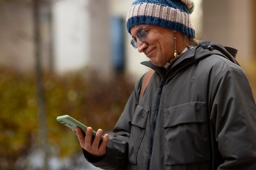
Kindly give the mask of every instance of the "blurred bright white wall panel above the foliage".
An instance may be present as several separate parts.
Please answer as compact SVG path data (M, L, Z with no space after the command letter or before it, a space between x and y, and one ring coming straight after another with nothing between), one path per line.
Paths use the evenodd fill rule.
M54 68L58 73L83 67L89 61L89 0L59 0L52 4Z

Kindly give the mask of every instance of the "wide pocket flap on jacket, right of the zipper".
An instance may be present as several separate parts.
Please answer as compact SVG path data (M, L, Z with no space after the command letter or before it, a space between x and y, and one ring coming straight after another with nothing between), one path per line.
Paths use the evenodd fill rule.
M206 122L206 102L190 102L164 110L164 128L182 123Z

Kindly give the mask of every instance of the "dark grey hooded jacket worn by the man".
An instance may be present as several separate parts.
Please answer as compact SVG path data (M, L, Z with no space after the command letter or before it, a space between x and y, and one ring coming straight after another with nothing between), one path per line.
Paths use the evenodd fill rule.
M228 49L229 51L230 49ZM256 170L256 106L249 82L220 44L187 51L155 70L141 99L139 79L103 159L106 170Z

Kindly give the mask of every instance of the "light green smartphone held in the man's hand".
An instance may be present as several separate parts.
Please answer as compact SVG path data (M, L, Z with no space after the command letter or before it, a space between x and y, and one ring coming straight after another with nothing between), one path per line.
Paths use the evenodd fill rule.
M69 115L58 116L57 121L73 130L76 130L76 128L79 127L81 128L84 134L86 129L88 128L87 126L85 126L84 124L82 124L81 122L77 121L76 119L74 119ZM95 135L96 135L96 132L92 130L92 139L94 139ZM103 136L101 136L100 143L102 140L103 140Z

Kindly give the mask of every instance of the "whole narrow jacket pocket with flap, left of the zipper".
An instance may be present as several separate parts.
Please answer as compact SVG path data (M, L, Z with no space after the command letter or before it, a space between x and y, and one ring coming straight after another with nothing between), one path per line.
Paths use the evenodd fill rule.
M148 109L137 105L132 118L128 162L137 165L137 154L146 128Z

